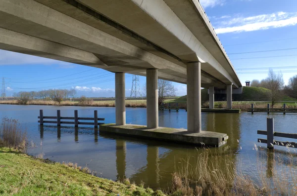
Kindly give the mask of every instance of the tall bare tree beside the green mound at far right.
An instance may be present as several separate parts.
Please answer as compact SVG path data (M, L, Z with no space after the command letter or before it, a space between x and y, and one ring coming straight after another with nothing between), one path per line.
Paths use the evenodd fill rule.
M284 79L282 73L275 74L272 69L269 69L267 87L270 89L271 107L273 108L276 101L282 98L281 90L284 87Z

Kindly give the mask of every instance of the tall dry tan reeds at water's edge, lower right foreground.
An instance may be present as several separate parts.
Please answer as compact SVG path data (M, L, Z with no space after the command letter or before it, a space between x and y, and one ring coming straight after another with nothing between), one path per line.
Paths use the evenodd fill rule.
M256 183L245 176L235 162L232 152L219 155L204 149L197 155L179 160L172 177L172 196L297 196L297 161L296 155L288 154L286 158L274 153L257 152L256 165L258 172ZM271 159L268 165L263 164L265 156ZM273 157L271 157L273 156ZM194 164L190 159L194 158ZM223 161L222 161L223 160ZM264 168L265 167L265 168ZM269 171L268 171L269 170ZM271 171L270 171L271 170ZM271 175L268 175L271 174Z

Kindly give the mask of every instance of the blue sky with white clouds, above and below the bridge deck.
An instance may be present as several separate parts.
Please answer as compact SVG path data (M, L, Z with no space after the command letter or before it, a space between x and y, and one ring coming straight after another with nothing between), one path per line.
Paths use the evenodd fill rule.
M297 0L200 0L241 82L266 78L268 68L285 83L297 75ZM270 51L267 51L270 50ZM274 50L274 51L271 51ZM261 52L256 52L261 51ZM114 96L114 75L92 67L0 50L6 94L76 88L78 95ZM140 77L141 88L145 77ZM126 95L132 76L126 75ZM177 95L186 85L174 83Z

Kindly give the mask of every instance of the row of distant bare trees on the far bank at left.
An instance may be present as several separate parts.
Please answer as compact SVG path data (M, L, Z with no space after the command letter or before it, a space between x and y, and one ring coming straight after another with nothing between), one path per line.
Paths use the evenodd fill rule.
M20 91L13 93L13 97L19 100L22 104L26 104L29 100L40 99L40 100L53 100L61 103L63 99L69 97L74 98L76 94L75 89L51 89L51 90L40 90L40 91Z

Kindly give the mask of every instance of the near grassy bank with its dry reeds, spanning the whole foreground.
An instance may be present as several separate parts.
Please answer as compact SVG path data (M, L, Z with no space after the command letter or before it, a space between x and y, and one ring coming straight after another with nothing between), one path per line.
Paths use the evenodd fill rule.
M166 196L160 190L131 184L128 179L120 183L96 177L87 167L77 164L25 155L21 152L25 150L25 143L26 132L17 121L4 118L0 128L1 195ZM258 152L256 146L254 149ZM254 175L258 184L240 172L241 164L232 155L234 152L222 154L204 149L195 156L176 160L171 186L165 192L168 196L297 195L295 154L289 154L284 160L270 158L270 166L265 168L261 160L271 157L273 152L257 153L255 161L260 168ZM191 158L194 158L194 164L190 164ZM278 165L284 166L275 169Z

